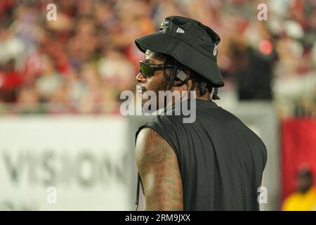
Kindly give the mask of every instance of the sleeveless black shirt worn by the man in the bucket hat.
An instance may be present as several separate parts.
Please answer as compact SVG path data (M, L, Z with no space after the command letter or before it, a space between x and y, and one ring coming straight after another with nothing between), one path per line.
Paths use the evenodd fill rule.
M143 124L175 151L183 181L184 210L259 210L267 151L263 141L216 103L196 101L196 120L158 115Z

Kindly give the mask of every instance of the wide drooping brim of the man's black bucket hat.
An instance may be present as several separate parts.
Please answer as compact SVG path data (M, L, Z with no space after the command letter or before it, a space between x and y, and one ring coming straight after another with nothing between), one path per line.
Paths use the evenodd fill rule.
M214 86L224 86L224 80L216 61L203 53L199 53L193 46L182 39L171 37L163 32L157 32L140 37L135 40L135 43L143 53L149 49L172 56L181 64L209 79Z

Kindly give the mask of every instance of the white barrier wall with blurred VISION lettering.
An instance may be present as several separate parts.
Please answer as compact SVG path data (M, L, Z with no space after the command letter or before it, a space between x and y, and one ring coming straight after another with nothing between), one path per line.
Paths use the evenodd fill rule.
M1 117L0 210L132 210L125 119Z

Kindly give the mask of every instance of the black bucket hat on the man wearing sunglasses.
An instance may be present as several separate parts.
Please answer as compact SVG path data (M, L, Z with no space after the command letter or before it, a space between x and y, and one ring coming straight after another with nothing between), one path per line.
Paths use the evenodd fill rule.
M164 19L159 32L135 40L140 51L150 49L172 56L187 68L195 70L213 86L224 86L217 65L217 50L220 37L216 32L197 20L181 16Z

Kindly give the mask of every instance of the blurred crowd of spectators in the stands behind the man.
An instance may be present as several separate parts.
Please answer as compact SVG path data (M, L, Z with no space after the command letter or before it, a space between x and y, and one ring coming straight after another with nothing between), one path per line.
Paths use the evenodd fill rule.
M51 3L57 20L46 18ZM261 3L268 20L258 20ZM239 100L316 112L316 0L1 0L0 113L119 113L144 57L133 40L168 15L220 34L218 65ZM308 92L304 83L291 95L287 82L301 80Z

